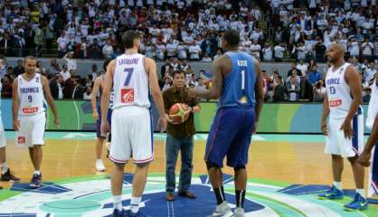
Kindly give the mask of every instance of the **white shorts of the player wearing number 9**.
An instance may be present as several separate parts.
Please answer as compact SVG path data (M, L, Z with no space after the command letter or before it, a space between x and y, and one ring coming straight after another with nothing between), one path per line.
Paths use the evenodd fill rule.
M32 147L44 145L44 128L46 126L46 115L40 113L31 116L18 117L20 128L15 132L15 145Z

